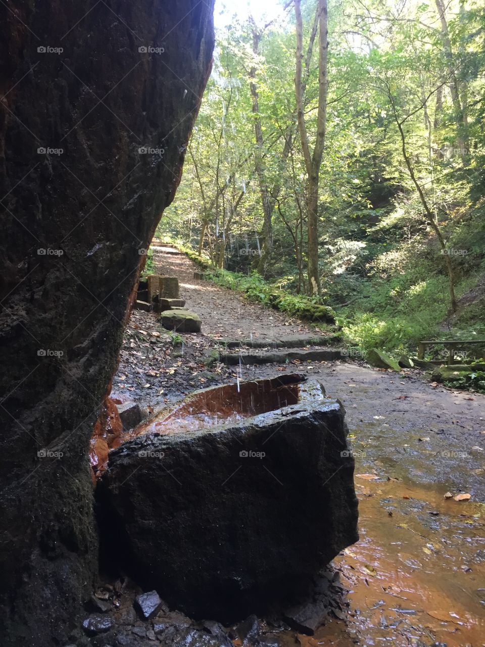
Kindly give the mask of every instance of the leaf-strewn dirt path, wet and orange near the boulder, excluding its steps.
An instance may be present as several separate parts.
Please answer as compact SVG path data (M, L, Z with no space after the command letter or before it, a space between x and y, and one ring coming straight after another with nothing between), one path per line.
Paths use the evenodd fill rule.
M155 314L133 313L116 393L156 406L233 382L235 367L218 365L208 377L203 358L216 344L213 337L314 334L294 318L193 280L197 267L186 256L157 250L155 261L160 274L178 276L187 307L202 318L202 334L183 335L182 355L163 334L149 341L149 331L159 330ZM140 329L147 333L141 341ZM242 380L296 370L322 382L347 411L361 540L336 559L349 608L314 637L282 631L281 644L484 645L485 396L433 387L417 371L391 373L345 357L238 369ZM445 499L448 490L471 500Z

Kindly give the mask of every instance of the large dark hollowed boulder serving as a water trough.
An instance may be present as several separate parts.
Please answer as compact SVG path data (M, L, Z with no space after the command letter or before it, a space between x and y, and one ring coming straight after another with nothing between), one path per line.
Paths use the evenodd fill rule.
M98 488L107 542L195 617L286 602L358 540L343 408L288 377L200 391L110 454Z

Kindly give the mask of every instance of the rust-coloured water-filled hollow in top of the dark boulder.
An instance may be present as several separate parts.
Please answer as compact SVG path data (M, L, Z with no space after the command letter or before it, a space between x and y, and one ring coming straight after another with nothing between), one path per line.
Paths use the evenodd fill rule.
M244 418L297 404L301 375L285 375L271 380L238 382L207 389L190 397L177 408L162 411L138 426L133 436L145 433L164 435L238 422Z

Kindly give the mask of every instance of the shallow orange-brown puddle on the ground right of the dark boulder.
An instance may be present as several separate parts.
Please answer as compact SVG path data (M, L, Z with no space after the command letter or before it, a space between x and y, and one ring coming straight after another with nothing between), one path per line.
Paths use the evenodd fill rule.
M282 644L485 644L484 504L400 481L356 477L356 487L360 541L335 560L348 620L327 620L312 637L287 632Z

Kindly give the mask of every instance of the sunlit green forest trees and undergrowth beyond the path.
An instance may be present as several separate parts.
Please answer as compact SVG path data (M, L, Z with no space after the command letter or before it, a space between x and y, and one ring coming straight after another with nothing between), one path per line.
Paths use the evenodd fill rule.
M160 235L228 284L237 272L330 305L364 348L484 336L481 3L221 10Z

